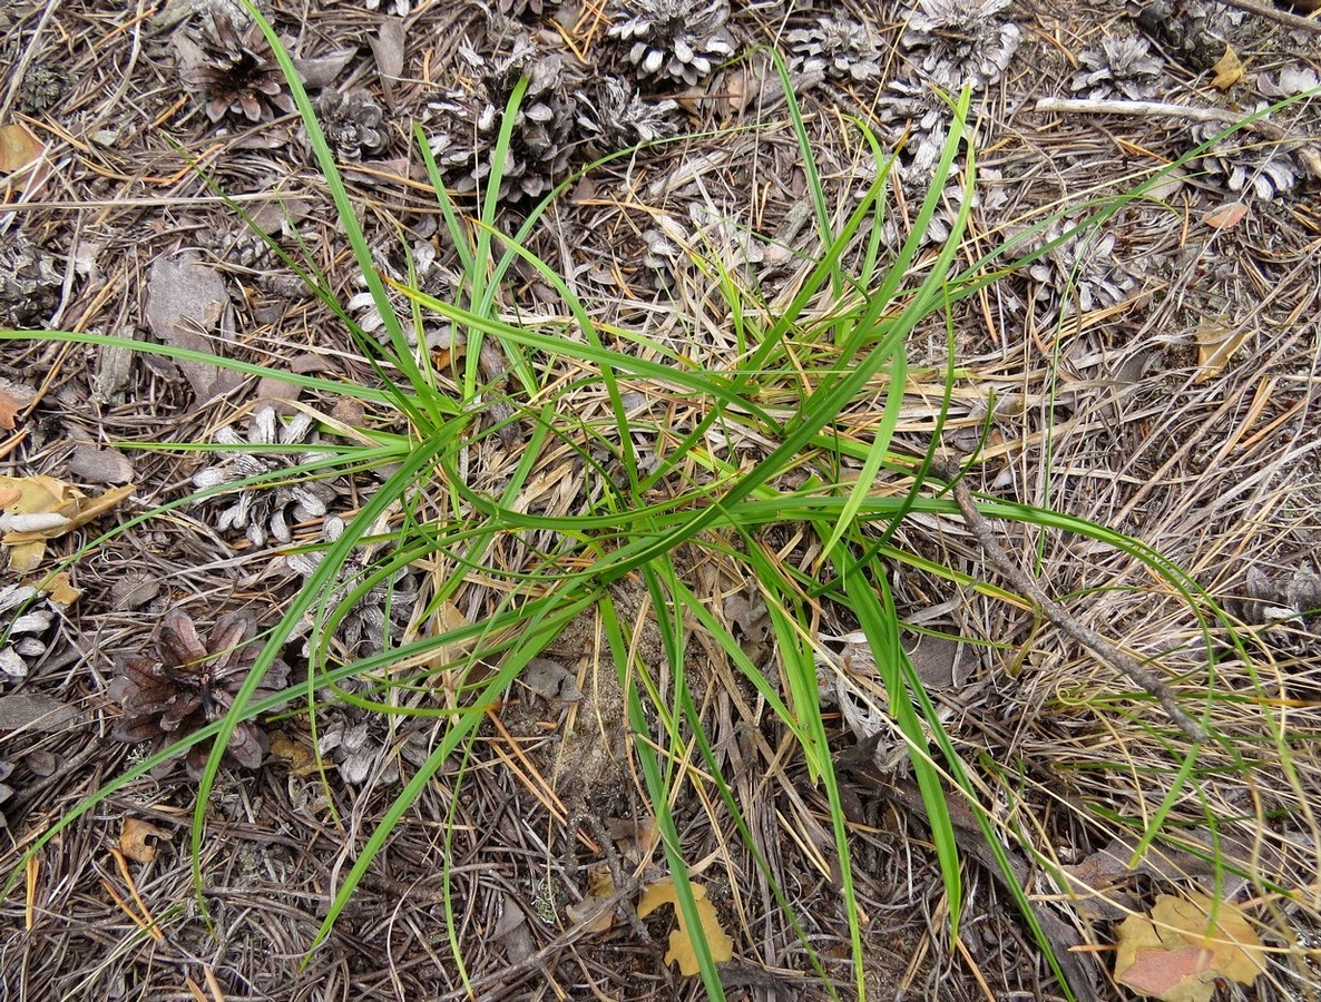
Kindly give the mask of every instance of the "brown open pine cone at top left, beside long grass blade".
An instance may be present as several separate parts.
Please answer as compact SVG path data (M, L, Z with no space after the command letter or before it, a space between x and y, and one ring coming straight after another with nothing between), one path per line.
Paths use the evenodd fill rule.
M262 28L250 21L239 30L229 11L211 11L211 26L201 45L185 36L176 40L180 77L189 90L206 96L206 115L219 121L242 115L248 121L293 111L293 98L284 92L284 74Z

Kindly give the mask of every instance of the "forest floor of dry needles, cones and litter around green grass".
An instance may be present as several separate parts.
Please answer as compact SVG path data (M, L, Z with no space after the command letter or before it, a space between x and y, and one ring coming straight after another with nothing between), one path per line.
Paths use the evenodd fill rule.
M1042 615L956 511L917 507L888 537L877 532L931 712L1009 846L1007 874L951 797L955 932L930 803L904 743L864 698L881 690L884 659L831 590L820 525L690 540L672 566L723 635L781 681L790 669L773 599L723 554L761 548L802 587L804 650L823 665L812 712L834 755L834 805L785 717L768 709L774 700L740 672L742 659L712 642L696 613L658 613L645 576L617 576L602 594L625 620L637 677L659 693L646 719L659 726L687 686L696 709L671 733L691 726L713 749L704 760L700 742L671 747L666 760L680 776L668 807L682 857L733 941L720 982L729 998L849 998L863 972L869 998L1132 998L1115 981L1116 943L1133 935L1120 932L1125 918L1149 916L1162 895L1205 895L1248 916L1256 968L1236 978L1217 954L1189 977L1173 969L1177 951L1151 951L1156 980L1176 993L1166 997L1321 997L1316 94L1210 143L1317 88L1321 21L1211 0L732 0L732 9L651 0L678 12L672 22L630 21L627 0L260 7L295 57L382 275L456 301L464 255L413 128L472 218L501 111L526 74L499 205L483 218L506 234L531 220L522 243L559 285L517 260L491 316L528 329L565 318L568 289L614 350L699 375L738 371L766 329L757 323L802 288L822 253L820 226L843 227L877 180L873 137L894 156L885 218L859 230L849 261L869 239L882 264L898 256L951 131L937 90L954 100L968 84L967 224L958 232L970 187L960 152L909 240L909 275L930 271L954 228L952 264L978 267L984 281L908 338L889 449L966 467L978 496L1024 506L1012 511L1062 512L1115 533L1104 541L1044 516L1015 520L1004 504L993 523L1008 560L1071 622L1156 669L1213 737L1190 741L1078 632ZM226 30L230 18L238 26ZM223 632L211 634L217 623L271 627L305 593L316 549L369 507L398 455L336 477L190 495L269 469L263 459L281 445L328 455L337 442L419 438L416 416L384 397L332 389L384 385L362 331L390 325L365 296L333 186L269 46L243 18L232 0L0 7L0 329L38 331L0 354L0 499L5 518L86 516L57 519L36 549L12 535L32 523L5 523L0 874L11 886L0 900L0 995L704 998L711 985L666 956L674 912L638 915L633 890L666 871L639 747L663 742L637 733L639 683L610 659L601 605L563 622L462 750L420 784L310 953L337 888L445 733L444 713L419 708L458 698L461 685L446 689L437 672L387 689L396 713L362 705L363 692L379 690L350 692L358 702L326 697L316 712L304 696L301 710L295 701L259 729L242 725L201 830L196 755L106 791L168 730L160 710L125 723L125 705L136 693L141 710L153 684L132 665L149 673L144 664L172 655L186 665L189 651ZM844 20L856 22L852 34ZM757 46L789 61L798 114ZM668 141L573 174L658 137ZM468 231L473 247L480 230ZM989 257L1016 240L1015 252ZM526 395L509 376L517 364L485 349L468 358L457 322L425 308L411 316L408 300L391 296L425 345L419 356L435 366L440 396L486 385L464 417L470 442L457 467L473 498L499 496L530 442L544 445L528 416L547 401L581 429L609 418L598 375L538 370L550 355L530 351L519 375L551 389ZM847 297L812 297L824 327ZM810 368L799 347L801 358L793 346L785 358ZM804 387L810 376L801 374ZM888 387L881 378L864 387L830 433L880 434ZM697 426L694 404L641 376L624 388L621 407L650 434L639 430L639 463L663 471L666 442ZM758 400L789 422L793 393L775 396L782 388ZM303 418L308 426L296 425ZM720 428L708 441L727 434ZM758 434L728 432L711 455L753 470L773 454ZM601 458L609 450L585 432L571 438L535 453L506 506L528 525L594 514L609 494L593 473L613 469ZM229 451L207 450L217 442ZM250 466L235 445L251 446ZM818 458L830 451L812 448ZM305 461L289 451L280 462ZM836 461L828 474L843 484L869 469L865 449ZM826 466L814 462L786 463L768 490L819 483ZM709 484L715 466L699 466L658 481L658 506ZM914 483L937 492L902 465L869 473L876 496L904 496ZM626 474L617 470L621 483ZM420 524L420 512L453 521L470 514L460 494L419 481L410 495L419 500L379 524ZM1155 573L1145 551L1110 544L1129 537L1197 590ZM392 552L374 545L373 558ZM390 630L410 640L495 617L514 594L501 582L556 545L510 532L452 590L449 549L396 568L391 599L366 595L339 624L333 663L373 655ZM687 638L678 655L671 620ZM306 680L309 657L305 638L285 646L284 684ZM495 677L498 657L477 661L469 668ZM234 697L226 680L206 684L194 714ZM791 688L779 697L801 714ZM256 743L246 749L244 738ZM98 791L107 795L30 852ZM1037 937L1009 892L1015 881Z

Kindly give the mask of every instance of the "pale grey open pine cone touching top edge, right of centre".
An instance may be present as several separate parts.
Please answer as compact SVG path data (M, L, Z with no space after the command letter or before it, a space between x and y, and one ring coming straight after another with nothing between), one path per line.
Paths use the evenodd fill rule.
M917 75L958 92L999 81L1018 49L1021 30L996 17L1009 0L918 0L900 37L918 53Z

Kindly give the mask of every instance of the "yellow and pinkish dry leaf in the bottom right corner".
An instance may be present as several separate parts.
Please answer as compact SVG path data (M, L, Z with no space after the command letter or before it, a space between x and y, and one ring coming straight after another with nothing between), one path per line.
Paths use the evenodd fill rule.
M1209 1002L1217 978L1251 985L1263 970L1252 924L1235 906L1203 894L1161 895L1151 919L1124 919L1116 945L1115 981L1161 1002Z

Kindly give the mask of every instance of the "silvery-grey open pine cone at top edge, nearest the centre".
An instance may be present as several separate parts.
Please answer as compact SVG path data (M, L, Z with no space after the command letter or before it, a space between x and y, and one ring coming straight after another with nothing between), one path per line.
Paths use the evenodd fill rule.
M626 0L609 36L642 78L696 86L734 51L728 0Z

